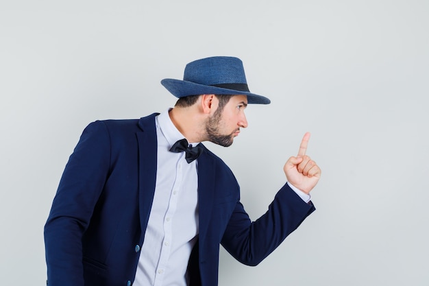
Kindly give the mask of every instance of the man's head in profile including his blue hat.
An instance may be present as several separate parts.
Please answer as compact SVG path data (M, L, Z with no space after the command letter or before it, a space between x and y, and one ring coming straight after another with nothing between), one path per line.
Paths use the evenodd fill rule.
M164 79L161 84L179 98L170 117L191 142L230 146L240 128L247 127L247 104L270 103L267 97L249 91L238 58L195 60L186 65L183 80Z

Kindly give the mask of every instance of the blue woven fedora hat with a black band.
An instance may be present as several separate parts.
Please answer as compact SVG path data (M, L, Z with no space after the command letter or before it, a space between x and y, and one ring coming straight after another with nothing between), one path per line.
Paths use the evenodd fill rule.
M161 84L175 97L188 95L247 95L249 104L269 104L262 95L249 91L243 62L234 57L210 57L186 64L183 80L166 78Z

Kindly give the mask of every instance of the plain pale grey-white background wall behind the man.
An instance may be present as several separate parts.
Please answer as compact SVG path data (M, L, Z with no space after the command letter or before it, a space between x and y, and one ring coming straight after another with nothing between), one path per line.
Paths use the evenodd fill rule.
M249 128L206 144L252 219L306 131L323 169L317 211L247 267L221 252L219 285L428 285L429 2L2 1L0 284L45 285L43 226L66 161L96 119L173 106L186 63L237 56Z

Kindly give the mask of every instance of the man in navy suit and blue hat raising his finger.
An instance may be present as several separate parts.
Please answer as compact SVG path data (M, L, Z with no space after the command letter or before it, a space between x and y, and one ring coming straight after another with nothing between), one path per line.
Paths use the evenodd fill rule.
M196 60L184 80L162 84L179 98L174 108L84 130L45 225L49 285L215 286L219 244L256 265L315 210L308 194L321 171L306 156L310 134L255 222L232 171L200 143L231 145L247 104L270 102L249 92L241 60Z

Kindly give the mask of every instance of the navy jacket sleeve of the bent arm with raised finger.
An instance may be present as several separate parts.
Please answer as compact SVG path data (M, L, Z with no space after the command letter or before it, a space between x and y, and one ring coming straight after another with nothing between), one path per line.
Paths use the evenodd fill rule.
M313 211L312 202L304 202L288 184L275 195L267 213L255 222L251 222L243 205L237 202L222 246L241 263L258 265Z

